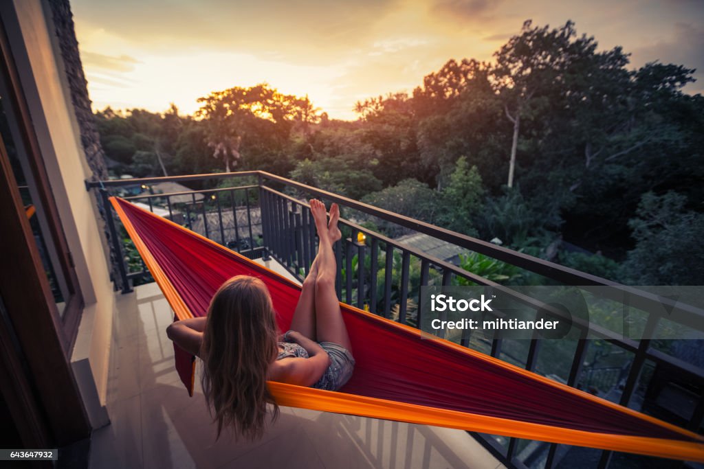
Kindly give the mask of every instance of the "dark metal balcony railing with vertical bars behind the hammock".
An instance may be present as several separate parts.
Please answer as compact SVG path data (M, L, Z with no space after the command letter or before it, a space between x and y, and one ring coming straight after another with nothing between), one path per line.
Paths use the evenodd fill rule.
M513 264L525 271L543 276L551 283L579 285L580 288L586 289L596 286L602 288L600 290L602 292L604 287L608 287L607 291L612 289L611 299L627 302L627 307L653 311L665 304L670 309L676 309L678 317L686 319L688 324L699 324L699 330L704 328L703 311L696 307L260 171L87 182L86 186L89 190L96 188L99 191L101 210L106 217L108 236L116 264L113 273L116 288L129 292L132 289L132 283L149 278L149 272L144 264L135 266L134 262L130 270L130 265L126 262L128 244L125 243L129 241L120 232L119 220L108 203L111 193L115 193L120 188L148 187L161 182L198 181L198 184L213 184L220 181L222 186L222 181L225 179L244 181L244 183L239 186L176 193L139 194L125 198L143 203L151 211L161 207L162 214L172 221L252 259L275 259L291 275L303 280L308 274L316 252L315 225L310 217L306 200L316 197L327 203L339 203L345 210L343 215L357 213L364 217L374 217L398 228L424 233L467 251L478 252ZM482 278L444 259L427 255L403 242L368 229L350 218L340 220L344 236L334 245L339 266L336 281L337 295L347 304L418 327L422 319L419 306L423 300L419 286L456 285L461 278L477 285L487 285L501 290L534 308L536 314L541 308L543 311L545 309L545 305L541 302L522 295L510 287ZM383 275L378 274L380 271L383 271ZM413 271L413 282L411 282L411 271ZM562 314L561 311L552 312L555 316ZM648 314L644 326L646 333L655 330L659 318L657 314ZM662 413L658 416L686 426L690 430L698 431L702 428L704 419L704 370L702 368L668 354L662 347L658 347L655 341L648 338L640 340L625 338L622 334L608 328L574 318L572 318L572 325L580 331L579 338L570 342L568 358L562 355L564 366L554 366L553 371L541 369L540 363L541 359L549 363L551 351L555 348L554 340L541 338L527 341L505 340L501 336L501 331L496 331L491 340L472 337L469 333L465 333L458 338L458 342L465 347L479 349L491 356L518 364L529 371L548 375L567 385L593 388L593 392L607 399L651 413L660 412L658 406L653 404L657 401L652 395L653 392L660 392L658 390L662 390L663 386L673 383L672 377L677 377L679 382L691 385L693 391L690 391L694 394L696 404L693 404L689 415L671 416ZM648 336L643 335L643 337ZM589 347L593 342L590 339L599 339L607 344L612 354L622 354L626 357L622 359L623 363L608 367L611 370L610 374L590 368L596 367L596 359L591 365L589 364ZM605 367L599 366L599 368ZM607 383L610 390L599 388L599 386L606 387ZM565 463L567 457L565 454L569 451L569 449L565 450L565 446L558 444L527 442L517 438L493 437L477 433L473 435L510 467L525 468L537 465L551 469L561 461ZM599 461L597 466L607 467L611 458L611 451L601 451L597 457Z

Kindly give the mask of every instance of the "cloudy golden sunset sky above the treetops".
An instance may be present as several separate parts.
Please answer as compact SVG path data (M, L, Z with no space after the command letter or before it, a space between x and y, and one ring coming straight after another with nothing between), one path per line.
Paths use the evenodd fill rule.
M704 1L73 0L94 108L170 102L268 82L330 117L354 119L360 99L411 91L450 58L491 60L524 20L621 45L631 65L696 68L704 92Z

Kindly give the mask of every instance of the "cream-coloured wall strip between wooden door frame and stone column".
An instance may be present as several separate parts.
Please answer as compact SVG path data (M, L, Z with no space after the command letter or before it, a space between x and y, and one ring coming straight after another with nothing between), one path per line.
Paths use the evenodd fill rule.
M13 4L20 32L8 28L11 49L85 302L71 361L91 423L99 428L108 423L105 404L115 314L99 214L84 186L90 170L63 61L47 25L51 11L42 0L14 0Z

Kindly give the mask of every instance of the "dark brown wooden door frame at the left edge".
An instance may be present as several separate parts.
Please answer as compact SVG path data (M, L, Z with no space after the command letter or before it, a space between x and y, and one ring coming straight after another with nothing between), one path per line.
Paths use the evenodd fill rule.
M20 436L30 439L26 444L33 446L44 439L43 444L57 447L89 437L91 431L70 365L83 299L8 44L6 26L12 19L3 15L0 21L0 74L7 88L4 98L11 108L6 111L9 118L16 119L15 124L20 129L24 156L30 163L39 202L49 222L50 232L44 236L47 243L54 243L56 247L60 265L54 268L61 269L71 285L71 295L65 298L62 317L58 314L18 184L0 138L0 259L3 264L0 268L0 297L6 311L6 321L0 321L0 338L4 345L0 347L0 372L11 373L8 375L11 379L0 379L0 392L8 403L19 403L13 419L24 435ZM6 342L6 338L12 337L11 342ZM18 414L16 417L15 413ZM24 423L30 425L27 431L20 428Z

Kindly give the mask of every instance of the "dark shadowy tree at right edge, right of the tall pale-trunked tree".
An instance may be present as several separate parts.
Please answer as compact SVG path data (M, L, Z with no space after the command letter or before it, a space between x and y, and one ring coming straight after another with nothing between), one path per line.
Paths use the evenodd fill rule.
M625 54L606 54L598 58L599 68L591 68L589 86L586 79L572 86L571 113L555 113L553 138L543 147L548 158L533 173L552 174L553 193L571 198L562 206L569 210L565 229L574 243L621 258L631 248L627 223L643 193L674 190L691 200L703 195L695 181L704 176L698 150L704 99L681 92L692 70L659 63L626 70ZM544 192L544 178L534 179Z

